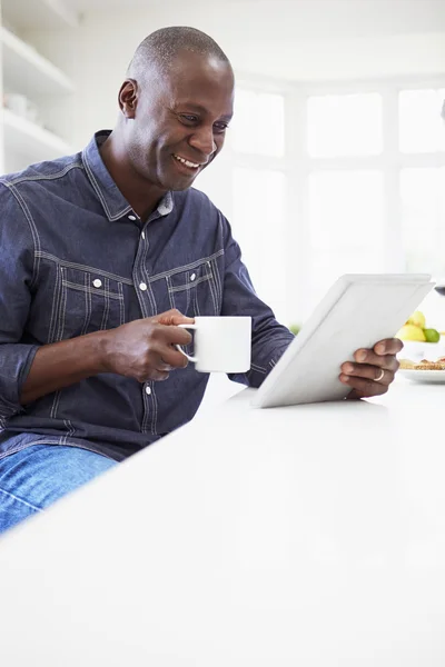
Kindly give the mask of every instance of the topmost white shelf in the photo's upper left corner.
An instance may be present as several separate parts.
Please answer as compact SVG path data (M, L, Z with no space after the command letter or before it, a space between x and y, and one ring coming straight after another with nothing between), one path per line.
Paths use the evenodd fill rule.
M70 0L1 0L4 19L21 29L46 30L79 24Z

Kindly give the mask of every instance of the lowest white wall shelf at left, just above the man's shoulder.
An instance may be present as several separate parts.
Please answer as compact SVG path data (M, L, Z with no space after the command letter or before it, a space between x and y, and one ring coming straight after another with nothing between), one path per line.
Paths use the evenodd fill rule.
M2 109L0 113L4 127L7 156L8 153L26 156L29 163L59 158L71 152L68 143L52 132L16 116L8 109Z

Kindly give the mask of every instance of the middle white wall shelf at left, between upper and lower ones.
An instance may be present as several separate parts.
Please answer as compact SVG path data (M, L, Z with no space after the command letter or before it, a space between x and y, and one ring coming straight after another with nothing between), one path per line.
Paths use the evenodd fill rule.
M0 41L3 84L8 90L30 97L73 91L72 82L63 72L6 28L0 28Z

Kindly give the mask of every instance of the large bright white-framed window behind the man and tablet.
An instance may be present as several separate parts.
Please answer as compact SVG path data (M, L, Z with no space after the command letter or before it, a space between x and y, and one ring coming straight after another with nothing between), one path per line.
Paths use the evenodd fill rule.
M278 319L304 321L340 273L443 278L445 78L276 90L237 90L224 157L199 182Z

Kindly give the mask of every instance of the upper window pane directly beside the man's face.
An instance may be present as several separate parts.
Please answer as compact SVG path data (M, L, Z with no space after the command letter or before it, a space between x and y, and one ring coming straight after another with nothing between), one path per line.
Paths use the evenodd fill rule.
M237 90L230 123L231 146L237 152L285 155L285 100L280 94Z

